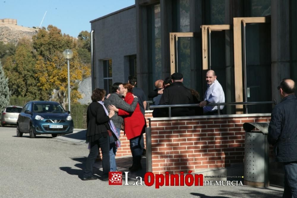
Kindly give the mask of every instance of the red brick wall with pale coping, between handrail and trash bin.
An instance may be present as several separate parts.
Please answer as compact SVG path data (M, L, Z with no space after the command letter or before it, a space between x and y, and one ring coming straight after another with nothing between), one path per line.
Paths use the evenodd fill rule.
M152 171L176 174L243 163L243 123L269 121L270 116L150 120Z

